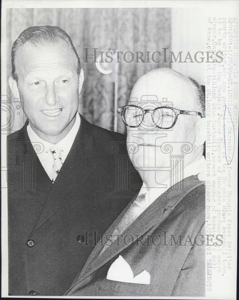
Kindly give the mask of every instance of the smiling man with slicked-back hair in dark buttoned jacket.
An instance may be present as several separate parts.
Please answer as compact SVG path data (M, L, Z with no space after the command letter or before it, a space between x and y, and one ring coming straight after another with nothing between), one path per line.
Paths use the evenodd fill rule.
M103 233L136 191L133 168L116 178L114 153L130 164L126 137L77 112L83 77L59 27L30 27L13 44L9 85L28 121L7 139L10 295L63 295L92 249L84 231Z

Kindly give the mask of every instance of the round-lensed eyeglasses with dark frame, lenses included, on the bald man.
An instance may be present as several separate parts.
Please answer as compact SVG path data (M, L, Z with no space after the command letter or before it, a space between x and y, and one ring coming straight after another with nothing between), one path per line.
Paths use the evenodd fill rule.
M118 112L121 112L124 124L128 127L139 127L143 122L146 113L151 113L154 125L160 129L172 128L179 115L200 116L203 118L203 115L199 112L178 110L168 106L156 107L155 109L150 110L143 109L137 105L125 105L119 107Z

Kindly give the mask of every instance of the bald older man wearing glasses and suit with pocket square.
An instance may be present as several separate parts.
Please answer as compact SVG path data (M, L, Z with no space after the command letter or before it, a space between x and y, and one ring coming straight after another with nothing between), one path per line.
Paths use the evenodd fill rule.
M205 295L205 99L170 69L138 79L120 107L144 184L107 229L66 295Z

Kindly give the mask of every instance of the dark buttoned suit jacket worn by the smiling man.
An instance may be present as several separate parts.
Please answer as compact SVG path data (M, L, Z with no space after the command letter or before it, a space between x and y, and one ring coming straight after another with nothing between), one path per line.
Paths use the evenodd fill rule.
M131 191L138 192L132 184L141 179L132 167L126 186L117 182L116 158L129 164L125 136L80 119L54 184L32 150L28 122L8 136L10 295L63 295L92 250L94 240L84 246L85 235L102 234L130 201Z

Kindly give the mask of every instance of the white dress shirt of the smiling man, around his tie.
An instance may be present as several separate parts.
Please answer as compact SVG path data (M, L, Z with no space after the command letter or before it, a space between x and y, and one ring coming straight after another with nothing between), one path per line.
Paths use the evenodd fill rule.
M74 143L74 140L75 140L75 137L76 137L76 134L77 134L79 128L80 128L80 115L77 113L75 123L72 126L71 130L68 132L68 134L62 140L60 140L60 142L55 144L62 150L61 159L62 159L63 164L64 164L64 161L66 160L68 153L71 150L71 147ZM43 152L41 152L41 153L36 152L36 154L39 158L40 163L42 164L42 167L44 168L47 175L51 179L50 176L51 176L52 166L54 163L53 156L50 152L50 146L52 144L48 143L48 142L42 140L40 137L38 137L38 135L32 130L30 124L28 124L28 126L27 126L27 132L28 132L28 137L29 137L33 147L35 145L37 145L37 143L43 144L43 146L44 146Z

